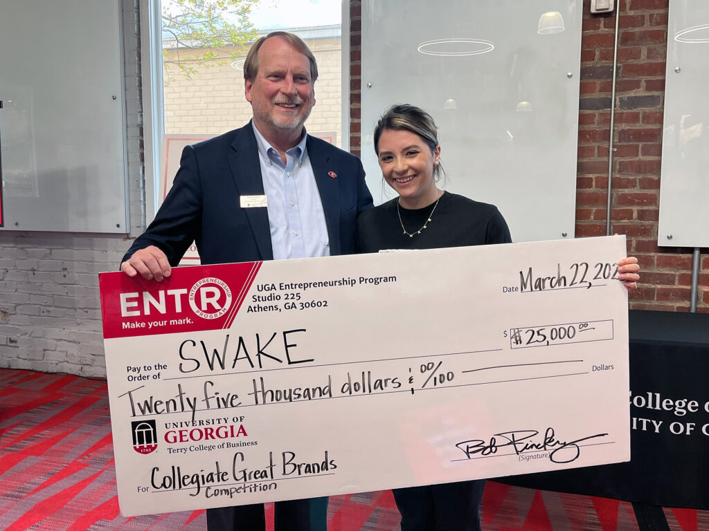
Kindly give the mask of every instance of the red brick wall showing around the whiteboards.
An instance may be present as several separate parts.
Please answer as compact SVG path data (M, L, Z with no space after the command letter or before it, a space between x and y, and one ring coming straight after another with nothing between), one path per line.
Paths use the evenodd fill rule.
M359 154L362 2L350 0L350 137ZM657 246L669 0L620 0L611 231L626 234L642 265L630 307L686 312L693 249ZM615 13L593 15L584 0L576 193L576 236L605 235ZM701 261L698 312L709 312L709 256Z

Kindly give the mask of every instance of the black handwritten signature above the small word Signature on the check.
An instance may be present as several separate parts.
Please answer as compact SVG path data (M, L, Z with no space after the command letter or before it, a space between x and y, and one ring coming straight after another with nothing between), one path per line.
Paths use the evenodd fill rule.
M458 442L456 447L461 450L467 459L472 459L476 454L492 455L496 454L499 448L506 446L513 447L516 455L524 452L549 451L549 460L554 463L570 463L579 459L581 447L579 442L605 437L608 433L597 433L575 440L559 440L554 433L554 428L547 428L544 439L541 442L532 438L539 435L537 430L516 430L496 433L489 442L481 439L464 440Z

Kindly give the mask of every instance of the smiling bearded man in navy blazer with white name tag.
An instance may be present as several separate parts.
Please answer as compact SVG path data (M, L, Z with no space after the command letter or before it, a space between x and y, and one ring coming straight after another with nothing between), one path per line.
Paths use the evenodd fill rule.
M188 146L172 190L121 270L157 281L194 240L201 262L305 258L357 251L356 222L372 207L357 157L306 134L318 67L296 35L255 42L244 63L253 120ZM276 531L320 531L328 498L277 502ZM262 504L207 510L209 531L265 530Z

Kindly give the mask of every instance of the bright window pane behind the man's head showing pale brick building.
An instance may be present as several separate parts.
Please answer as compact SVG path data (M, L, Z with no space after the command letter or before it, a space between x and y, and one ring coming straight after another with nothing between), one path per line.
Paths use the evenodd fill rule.
M311 135L340 146L341 1L231 0L224 12L209 12L210 4L189 13L174 0L162 0L164 132L216 135L245 125L252 116L243 77L249 47L270 31L286 30L301 37L318 61L317 103L306 128ZM236 14L247 6L248 13ZM196 23L207 19L212 23L209 27ZM189 23L203 33L191 34ZM214 39L229 25L242 30L235 39L240 44Z

